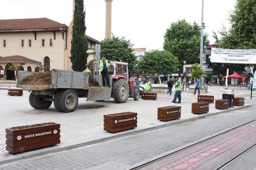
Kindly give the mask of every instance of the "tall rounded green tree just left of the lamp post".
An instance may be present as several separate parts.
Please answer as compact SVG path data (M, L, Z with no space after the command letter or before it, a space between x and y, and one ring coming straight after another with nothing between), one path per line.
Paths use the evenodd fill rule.
M178 57L179 76L184 61L193 64L200 57L200 26L197 23L190 24L185 19L171 23L164 35L164 49ZM208 45L207 35L204 35L204 45Z

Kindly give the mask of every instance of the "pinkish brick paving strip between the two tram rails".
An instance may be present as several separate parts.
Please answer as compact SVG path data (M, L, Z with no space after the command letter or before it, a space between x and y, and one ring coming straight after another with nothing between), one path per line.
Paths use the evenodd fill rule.
M256 121L153 162L141 170L215 170L256 144Z

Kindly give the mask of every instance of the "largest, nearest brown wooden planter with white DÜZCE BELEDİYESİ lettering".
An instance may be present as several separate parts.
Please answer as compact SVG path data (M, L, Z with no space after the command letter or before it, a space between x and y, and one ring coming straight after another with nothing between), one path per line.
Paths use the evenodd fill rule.
M42 123L6 128L6 150L24 152L60 143L60 124Z

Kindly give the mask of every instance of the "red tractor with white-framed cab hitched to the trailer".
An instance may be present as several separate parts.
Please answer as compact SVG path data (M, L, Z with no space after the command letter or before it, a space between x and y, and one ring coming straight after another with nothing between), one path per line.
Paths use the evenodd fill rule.
M140 97L140 91L134 89L134 78L129 78L128 63L122 61L110 61L112 66L109 68L109 72L112 73L112 94L116 103L124 103L127 98L134 98L138 100Z

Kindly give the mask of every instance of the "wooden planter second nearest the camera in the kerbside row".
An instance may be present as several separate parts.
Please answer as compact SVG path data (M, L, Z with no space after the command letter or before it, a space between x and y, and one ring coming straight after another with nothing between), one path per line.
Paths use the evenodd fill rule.
M137 127L137 113L124 112L104 115L104 131L119 132Z

